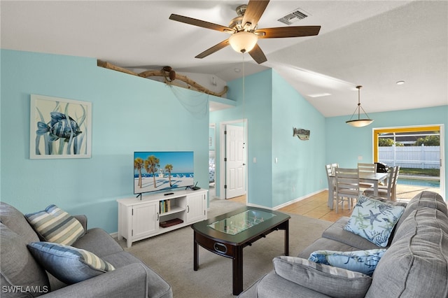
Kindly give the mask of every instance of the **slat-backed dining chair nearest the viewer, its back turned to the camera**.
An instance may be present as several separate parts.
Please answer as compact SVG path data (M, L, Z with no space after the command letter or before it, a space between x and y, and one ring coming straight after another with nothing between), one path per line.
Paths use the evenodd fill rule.
M353 205L353 199L358 199L359 190L359 170L335 168L336 181L336 213L338 212L339 199L344 208L344 201L347 201L349 209Z

